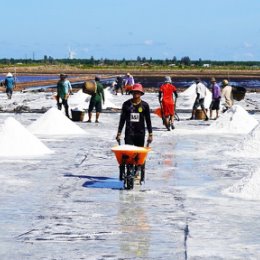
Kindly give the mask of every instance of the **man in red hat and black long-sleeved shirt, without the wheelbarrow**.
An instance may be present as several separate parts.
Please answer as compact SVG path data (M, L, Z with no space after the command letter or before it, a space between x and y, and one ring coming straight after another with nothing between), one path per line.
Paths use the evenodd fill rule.
M116 140L120 143L121 133L125 125L125 144L144 147L147 127L147 144L153 141L153 131L149 104L141 99L143 86L134 84L131 91L133 98L122 105ZM146 124L146 127L145 127ZM145 178L145 165L141 166L141 182Z

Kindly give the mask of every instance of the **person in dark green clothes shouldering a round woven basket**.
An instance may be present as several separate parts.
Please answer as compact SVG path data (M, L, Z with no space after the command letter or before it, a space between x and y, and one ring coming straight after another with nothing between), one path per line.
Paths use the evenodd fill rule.
M104 87L100 83L100 77L96 76L95 77L95 82L97 85L96 92L91 95L91 99L89 102L89 107L88 107L88 123L91 123L91 118L92 118L92 111L95 108L96 110L96 123L99 123L99 116L100 113L102 112L102 101L105 103L105 94L104 94Z

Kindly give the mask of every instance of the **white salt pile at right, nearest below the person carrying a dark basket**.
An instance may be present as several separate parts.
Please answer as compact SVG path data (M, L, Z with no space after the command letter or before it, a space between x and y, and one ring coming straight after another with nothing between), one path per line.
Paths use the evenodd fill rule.
M257 125L258 121L249 115L244 108L234 105L214 121L207 130L248 134Z

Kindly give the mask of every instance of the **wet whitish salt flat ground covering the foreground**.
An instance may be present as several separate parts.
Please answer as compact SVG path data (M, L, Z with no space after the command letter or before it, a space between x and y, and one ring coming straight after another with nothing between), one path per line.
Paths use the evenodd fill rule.
M15 93L9 107L26 99L51 108L51 97ZM249 106L236 105L257 106L259 95L249 97ZM110 98L121 107L130 96ZM157 94L143 99L158 107ZM7 106L5 94L0 101ZM0 127L12 116L26 129L42 115L1 113ZM259 113L250 115L259 122ZM186 120L190 113L169 132L152 114L146 182L126 191L111 151L119 116L76 122L87 133L81 138L38 137L53 154L0 157L0 259L259 259L259 155L224 153L252 132L195 134L214 121Z

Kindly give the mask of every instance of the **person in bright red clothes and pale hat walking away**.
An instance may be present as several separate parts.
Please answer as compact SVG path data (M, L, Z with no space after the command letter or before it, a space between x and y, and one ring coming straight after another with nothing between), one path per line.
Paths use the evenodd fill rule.
M174 129L173 120L175 111L173 94L176 99L178 97L177 89L172 85L171 77L166 76L164 83L159 90L159 102L161 104L163 116L165 117L164 124L168 131L170 131L170 127Z

